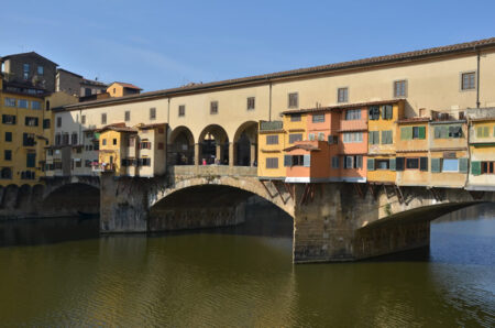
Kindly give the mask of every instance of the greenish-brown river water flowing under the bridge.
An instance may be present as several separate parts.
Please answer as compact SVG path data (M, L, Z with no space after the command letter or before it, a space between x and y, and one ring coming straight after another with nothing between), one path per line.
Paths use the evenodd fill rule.
M495 326L493 215L432 223L429 252L293 265L292 221L267 214L147 238L0 222L0 326Z

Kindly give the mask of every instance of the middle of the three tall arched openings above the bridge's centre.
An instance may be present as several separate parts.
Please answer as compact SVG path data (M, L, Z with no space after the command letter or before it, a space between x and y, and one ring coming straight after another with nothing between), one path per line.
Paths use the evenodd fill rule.
M229 165L229 136L222 127L211 124L199 135L199 164Z

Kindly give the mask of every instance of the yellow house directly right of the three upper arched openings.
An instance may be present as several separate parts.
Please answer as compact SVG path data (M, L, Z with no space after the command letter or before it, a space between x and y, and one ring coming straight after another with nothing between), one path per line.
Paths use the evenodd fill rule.
M257 176L284 179L285 131L282 121L261 121L258 125Z

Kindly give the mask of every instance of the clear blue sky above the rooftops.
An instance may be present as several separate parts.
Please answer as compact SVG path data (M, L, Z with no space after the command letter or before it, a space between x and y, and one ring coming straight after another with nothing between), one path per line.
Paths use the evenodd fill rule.
M145 91L495 36L495 1L4 1L0 56Z

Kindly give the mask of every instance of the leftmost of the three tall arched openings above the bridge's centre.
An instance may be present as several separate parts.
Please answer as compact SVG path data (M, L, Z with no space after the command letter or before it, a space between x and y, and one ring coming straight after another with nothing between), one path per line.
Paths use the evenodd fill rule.
M188 128L175 128L168 140L168 165L195 164L195 138Z

